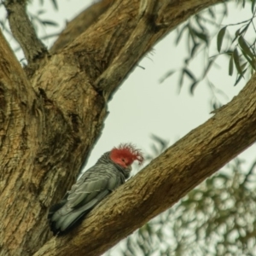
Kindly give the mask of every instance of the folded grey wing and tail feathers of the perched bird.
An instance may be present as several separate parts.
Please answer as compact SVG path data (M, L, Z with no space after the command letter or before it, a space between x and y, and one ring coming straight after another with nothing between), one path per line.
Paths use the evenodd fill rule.
M122 179L113 168L111 164L99 164L84 172L68 192L66 204L51 218L55 233L70 229L99 201L119 187Z

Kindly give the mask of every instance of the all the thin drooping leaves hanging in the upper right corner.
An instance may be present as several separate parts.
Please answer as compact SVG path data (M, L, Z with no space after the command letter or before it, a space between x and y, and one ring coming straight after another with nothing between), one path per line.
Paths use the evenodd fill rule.
M212 94L212 108L221 107L222 103L218 96L224 93L212 83L208 73L212 72L212 67L218 67L218 57L226 55L230 60L228 73L230 76L236 75L234 85L238 84L241 79L249 79L253 75L256 69L255 2L254 0L236 1L237 8L251 9L252 16L235 24L222 25L229 9L227 3L222 3L214 9L209 8L191 17L182 26L179 26L177 28L176 44L179 44L181 38L183 38L188 47L188 56L183 61L183 67L168 71L160 79L160 83L163 83L172 74L179 73L179 89L181 90L184 81L186 81L189 85L189 92L193 95L195 88L201 82L204 82ZM235 27L237 29L234 31ZM217 38L217 44L215 42L213 42L215 44L212 44L212 40L215 38ZM216 52L216 50L216 54L210 55L210 52ZM204 61L202 67L204 69L201 70L201 74L196 74L194 63L196 59L198 60L202 56Z

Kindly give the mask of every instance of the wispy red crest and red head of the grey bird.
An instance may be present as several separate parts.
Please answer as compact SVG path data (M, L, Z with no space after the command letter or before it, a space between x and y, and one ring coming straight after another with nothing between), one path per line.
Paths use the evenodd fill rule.
M135 148L135 146L130 143L122 143L118 148L113 148L110 151L110 159L113 160L113 162L125 159L125 164L127 166L131 166L135 160L141 165L144 160L141 150Z

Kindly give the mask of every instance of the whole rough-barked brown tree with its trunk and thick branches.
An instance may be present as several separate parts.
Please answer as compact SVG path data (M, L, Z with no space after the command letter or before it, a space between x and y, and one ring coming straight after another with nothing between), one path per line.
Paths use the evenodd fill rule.
M167 32L217 3L103 0L70 22L48 52L27 18L26 1L3 2L27 66L20 67L1 35L1 255L99 255L255 141L253 76L239 96L113 192L78 229L50 238L48 207L77 177L121 82Z

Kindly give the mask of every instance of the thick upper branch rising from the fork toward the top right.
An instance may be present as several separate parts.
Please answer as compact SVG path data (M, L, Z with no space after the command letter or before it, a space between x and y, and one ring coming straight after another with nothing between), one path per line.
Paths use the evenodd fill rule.
M90 26L64 51L78 55L82 68L82 63L90 64L86 65L86 73L95 78L92 85L108 102L121 81L153 44L191 15L221 2L116 1L101 16L101 20ZM104 47L102 38L105 39Z

